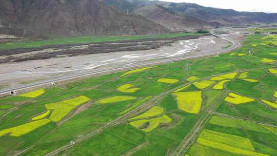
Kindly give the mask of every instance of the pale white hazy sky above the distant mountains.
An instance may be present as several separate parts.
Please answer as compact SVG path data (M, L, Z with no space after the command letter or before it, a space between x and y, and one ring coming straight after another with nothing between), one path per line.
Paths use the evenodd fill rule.
M196 3L206 7L215 7L223 9L234 9L237 11L263 11L277 12L277 0L161 0L167 2L187 2Z

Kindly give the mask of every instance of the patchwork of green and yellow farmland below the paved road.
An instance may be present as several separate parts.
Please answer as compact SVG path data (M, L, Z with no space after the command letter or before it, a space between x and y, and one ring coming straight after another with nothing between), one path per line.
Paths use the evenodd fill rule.
M276 41L2 98L0 155L277 155Z

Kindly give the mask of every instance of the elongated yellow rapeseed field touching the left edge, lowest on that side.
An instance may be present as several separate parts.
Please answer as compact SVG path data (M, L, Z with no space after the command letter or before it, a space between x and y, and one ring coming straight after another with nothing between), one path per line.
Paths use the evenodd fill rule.
M3 136L7 133L10 133L10 135L12 135L12 136L21 136L21 135L24 135L24 134L27 134L27 133L33 131L34 129L36 129L38 127L46 125L49 122L50 122L50 120L48 120L48 119L42 119L42 120L37 120L37 121L27 123L27 124L23 124L20 126L16 126L13 128L4 129L4 130L0 131L0 136Z

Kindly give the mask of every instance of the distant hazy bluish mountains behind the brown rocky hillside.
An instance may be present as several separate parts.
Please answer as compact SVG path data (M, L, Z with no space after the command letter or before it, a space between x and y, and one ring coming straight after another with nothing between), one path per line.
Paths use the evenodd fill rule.
M142 15L151 21L160 23L164 26L177 23L179 27L194 27L196 24L203 22L207 26L215 25L241 25L241 24L261 24L277 22L277 13L264 12L239 12L233 9L219 9L212 7L204 7L192 3L173 3L162 1L148 0L102 0L104 3L115 7L118 10L133 14ZM118 5L122 4L122 5ZM130 7L128 7L130 6ZM164 11L158 8L165 8ZM157 11L159 10L159 11ZM159 15L157 15L159 12ZM162 14L167 14L162 17ZM170 15L169 15L170 14ZM172 18L179 18L180 22ZM196 19L198 21L196 21ZM172 21L173 20L173 21ZM166 23L166 24L165 24Z

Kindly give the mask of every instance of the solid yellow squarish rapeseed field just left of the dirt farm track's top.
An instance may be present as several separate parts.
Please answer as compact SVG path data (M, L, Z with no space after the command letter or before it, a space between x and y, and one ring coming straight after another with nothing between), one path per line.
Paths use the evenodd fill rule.
M201 109L202 104L202 92L191 91L191 92L176 92L173 95L176 96L178 108L188 112L197 114Z

